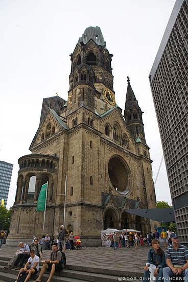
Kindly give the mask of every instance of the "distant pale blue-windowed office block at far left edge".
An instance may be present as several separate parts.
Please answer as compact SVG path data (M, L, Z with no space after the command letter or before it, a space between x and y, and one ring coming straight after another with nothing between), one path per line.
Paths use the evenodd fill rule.
M7 199L9 195L12 169L12 163L0 160L0 204L2 203L2 200L4 200L5 207L7 205Z

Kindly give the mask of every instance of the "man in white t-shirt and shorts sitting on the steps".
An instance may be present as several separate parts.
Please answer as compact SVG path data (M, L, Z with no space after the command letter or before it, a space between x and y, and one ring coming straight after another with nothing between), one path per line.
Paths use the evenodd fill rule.
M31 277L31 275L37 274L37 272L39 270L39 257L37 255L35 255L34 250L30 251L30 255L31 256L29 257L28 262L25 265L25 267L20 269L15 282L17 282L19 274L23 271L26 271L26 273L28 273L24 282L27 282L29 280L29 278ZM31 264L31 267L28 269L29 264Z

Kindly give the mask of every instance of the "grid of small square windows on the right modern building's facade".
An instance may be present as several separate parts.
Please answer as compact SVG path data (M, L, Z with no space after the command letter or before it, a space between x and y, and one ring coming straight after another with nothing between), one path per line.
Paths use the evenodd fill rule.
M158 68L162 67L164 72L162 73L162 69L159 70L157 68L155 76L151 83L151 89L152 89L152 95L153 95L154 102L156 102L155 100L159 94L159 90L161 90L160 82L163 81L163 79L161 79L161 77L163 77L164 78L163 87L167 91L166 92L167 103L168 102L171 103L170 104L171 107L173 104L177 103L176 104L177 109L175 109L174 107L174 111L172 110L171 112L169 112L170 121L172 121L171 126L174 131L173 132L174 140L176 140L176 141L173 140L173 147L171 147L171 151L174 151L174 149L176 150L177 148L177 150L180 150L180 154L181 154L181 155L180 154L178 155L178 157L181 157L179 162L175 163L175 165L168 170L172 198L178 196L179 194L182 194L184 191L188 191L188 186L187 186L187 183L188 183L188 170L187 170L188 156L185 155L184 157L182 157L182 154L187 152L187 148L186 148L187 135L185 135L185 131L184 131L185 127L187 128L187 120L185 121L185 119L182 119L183 109L184 109L185 114L187 113L187 110L188 110L188 106L187 106L187 89L188 89L187 80L188 79L187 79L187 73L185 73L187 72L186 70L187 49L185 49L185 41L183 41L183 38L182 38L182 37L185 38L185 36L187 37L185 38L186 44L187 44L187 39L188 39L187 30L188 30L188 5L187 5L187 2L184 1L180 9L179 15L177 17L176 23L174 25L174 28L171 32L171 36L166 46L166 50L165 50L165 52L168 53L169 60L171 62L172 69L173 69L173 74L175 76L175 80L177 81L177 85L179 89L177 91L176 83L174 81L173 76L172 76L173 78L172 83L170 83L170 78L167 79L165 69L167 69L168 71L168 65L167 65L168 60L166 61L166 63L164 62L163 64L161 62L160 66L158 66ZM165 52L163 54L165 54ZM162 59L164 58L165 56L162 57ZM159 77L160 77L160 81L159 81ZM175 97L173 98L174 94L177 96L180 96L180 99L175 98ZM160 105L159 102L158 104ZM181 111L181 114L180 114L180 111ZM178 121L174 122L174 119L177 120L177 118L178 118ZM182 124L183 130L182 132L178 132L178 135L176 136L177 134L176 131L178 131L178 129L176 130L176 128L179 127L178 125L181 126L180 124L181 122L184 123ZM161 127L162 127L162 124L161 124ZM171 138L171 142L172 142L173 134L172 136L167 136L167 138ZM168 146L167 142L166 142L166 149L165 149L166 152L165 153L169 154L168 156L166 156L167 162L168 162L170 159L173 160L173 157L176 155L176 153L174 154L170 153L169 146L171 146L172 144L171 145L169 144ZM176 158L177 158L177 155L176 155ZM180 235L180 241L188 242L188 236L187 236L188 234L188 206L175 210L175 217L176 217L176 223L177 223L177 231L178 231L178 234Z

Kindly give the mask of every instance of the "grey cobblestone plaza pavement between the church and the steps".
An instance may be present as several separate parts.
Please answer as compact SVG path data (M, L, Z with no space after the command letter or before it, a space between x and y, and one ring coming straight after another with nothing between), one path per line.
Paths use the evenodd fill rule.
M82 250L66 250L68 265L93 266L120 269L124 271L144 272L150 247L138 246L135 249L121 248L114 250L112 247L83 247ZM18 247L3 245L0 256L12 257ZM43 258L47 259L52 250L43 250Z

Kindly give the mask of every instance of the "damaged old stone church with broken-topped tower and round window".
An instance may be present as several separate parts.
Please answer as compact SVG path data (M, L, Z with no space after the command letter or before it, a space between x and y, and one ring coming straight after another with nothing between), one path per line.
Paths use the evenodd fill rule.
M44 234L56 237L64 220L66 176L65 227L81 236L83 245L100 245L106 228L151 230L150 220L126 212L154 208L156 197L143 112L127 78L122 115L115 102L112 56L99 27L87 28L70 54L67 102L60 114L55 104L45 115L43 109L31 154L18 159L9 244L33 234L41 238L43 212L35 210L46 181Z

